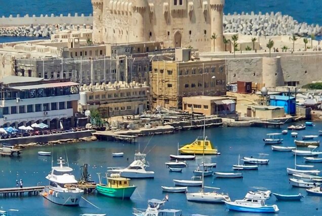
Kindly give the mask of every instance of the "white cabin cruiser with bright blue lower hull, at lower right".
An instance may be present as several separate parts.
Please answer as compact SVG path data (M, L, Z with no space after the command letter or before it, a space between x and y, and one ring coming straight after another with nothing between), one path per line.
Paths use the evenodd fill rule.
M258 198L256 193L250 191L242 200L235 200L233 202L224 201L229 210L244 211L244 212L278 212L277 205L266 205L264 199Z

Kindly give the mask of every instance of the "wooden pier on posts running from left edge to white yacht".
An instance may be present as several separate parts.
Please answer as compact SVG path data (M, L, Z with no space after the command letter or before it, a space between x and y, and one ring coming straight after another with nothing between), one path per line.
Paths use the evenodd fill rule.
M28 196L39 195L39 192L44 190L45 186L23 187L23 188L1 188L0 197L18 197L24 196L25 193Z

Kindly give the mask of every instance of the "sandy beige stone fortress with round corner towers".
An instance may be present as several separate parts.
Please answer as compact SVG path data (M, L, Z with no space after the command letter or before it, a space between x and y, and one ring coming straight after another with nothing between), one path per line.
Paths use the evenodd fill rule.
M94 43L163 41L166 48L223 51L224 0L92 0L92 4Z

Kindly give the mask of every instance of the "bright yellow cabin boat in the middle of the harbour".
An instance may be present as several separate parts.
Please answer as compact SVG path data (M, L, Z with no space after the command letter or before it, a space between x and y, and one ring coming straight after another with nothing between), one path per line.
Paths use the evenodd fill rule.
M205 148L205 152L203 148ZM179 153L187 155L220 155L218 149L212 146L210 140L206 139L205 141L203 137L198 137L191 144L181 147L179 149Z

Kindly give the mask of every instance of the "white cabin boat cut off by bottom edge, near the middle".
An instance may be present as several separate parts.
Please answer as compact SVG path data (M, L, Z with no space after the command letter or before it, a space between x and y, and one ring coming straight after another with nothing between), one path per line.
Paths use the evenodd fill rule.
M148 200L147 209L133 208L135 216L182 216L182 210L163 208L168 200L168 195L163 200L150 199Z

